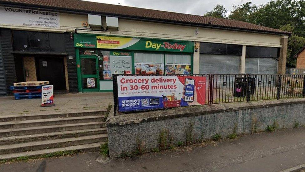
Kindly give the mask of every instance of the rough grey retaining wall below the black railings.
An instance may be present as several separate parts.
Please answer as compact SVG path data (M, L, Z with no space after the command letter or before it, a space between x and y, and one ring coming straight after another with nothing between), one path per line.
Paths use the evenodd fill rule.
M232 133L249 134L265 131L267 125L292 128L305 124L305 99L224 103L212 106L180 107L168 110L118 114L113 110L107 119L111 157L145 152L159 147L160 133L167 143L210 140L216 133L222 138ZM190 139L191 138L191 139Z

